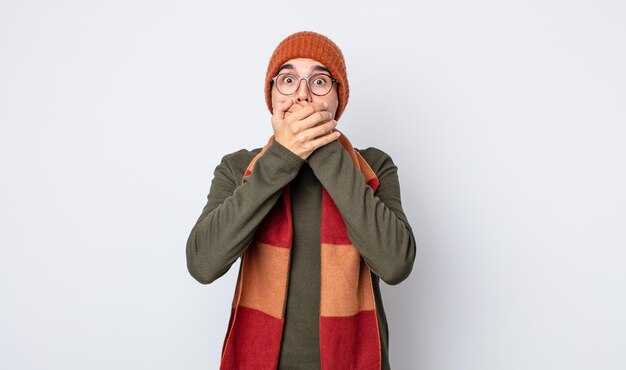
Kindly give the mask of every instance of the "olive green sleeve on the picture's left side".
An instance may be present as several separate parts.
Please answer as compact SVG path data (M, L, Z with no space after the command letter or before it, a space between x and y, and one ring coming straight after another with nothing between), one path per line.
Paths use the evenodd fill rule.
M255 162L248 151L227 154L215 168L207 203L187 239L187 269L202 284L224 275L243 254L263 218L304 160L274 141Z

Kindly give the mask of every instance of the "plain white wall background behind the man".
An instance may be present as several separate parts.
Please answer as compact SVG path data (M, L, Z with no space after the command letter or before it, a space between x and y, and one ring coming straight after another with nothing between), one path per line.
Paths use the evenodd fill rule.
M626 368L621 1L0 2L0 368L216 369L239 263L185 243L272 134L287 35L333 39L338 129L399 168L418 253L394 369Z

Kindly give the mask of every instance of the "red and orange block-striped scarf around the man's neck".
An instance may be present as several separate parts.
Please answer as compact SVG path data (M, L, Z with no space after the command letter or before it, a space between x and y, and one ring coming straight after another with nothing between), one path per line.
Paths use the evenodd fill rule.
M378 177L345 135L337 140L374 191ZM250 162L274 141L274 135ZM322 188L320 359L322 370L381 368L378 317L370 269L354 247L337 206ZM290 186L243 253L222 347L221 370L276 369L285 321L292 246Z

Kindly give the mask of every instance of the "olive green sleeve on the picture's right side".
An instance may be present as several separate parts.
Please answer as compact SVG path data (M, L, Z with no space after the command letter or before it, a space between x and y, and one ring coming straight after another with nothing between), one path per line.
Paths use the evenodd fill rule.
M415 237L402 210L398 168L389 155L375 150L382 161L378 170L373 167L379 180L376 193L338 140L318 148L307 159L365 262L384 282L395 285L413 269Z

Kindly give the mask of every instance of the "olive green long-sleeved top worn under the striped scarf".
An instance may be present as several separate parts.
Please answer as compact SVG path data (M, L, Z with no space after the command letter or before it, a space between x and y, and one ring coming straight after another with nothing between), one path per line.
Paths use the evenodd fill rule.
M189 272L203 284L213 282L243 254L281 189L291 182L294 234L279 369L320 367L322 186L333 198L350 240L372 271L382 368L390 369L379 279L395 285L408 277L415 260L415 238L402 210L398 169L391 157L372 147L355 149L379 178L375 194L337 140L317 149L307 160L274 141L243 184L243 173L261 148L225 155L215 169L207 204L187 240Z

